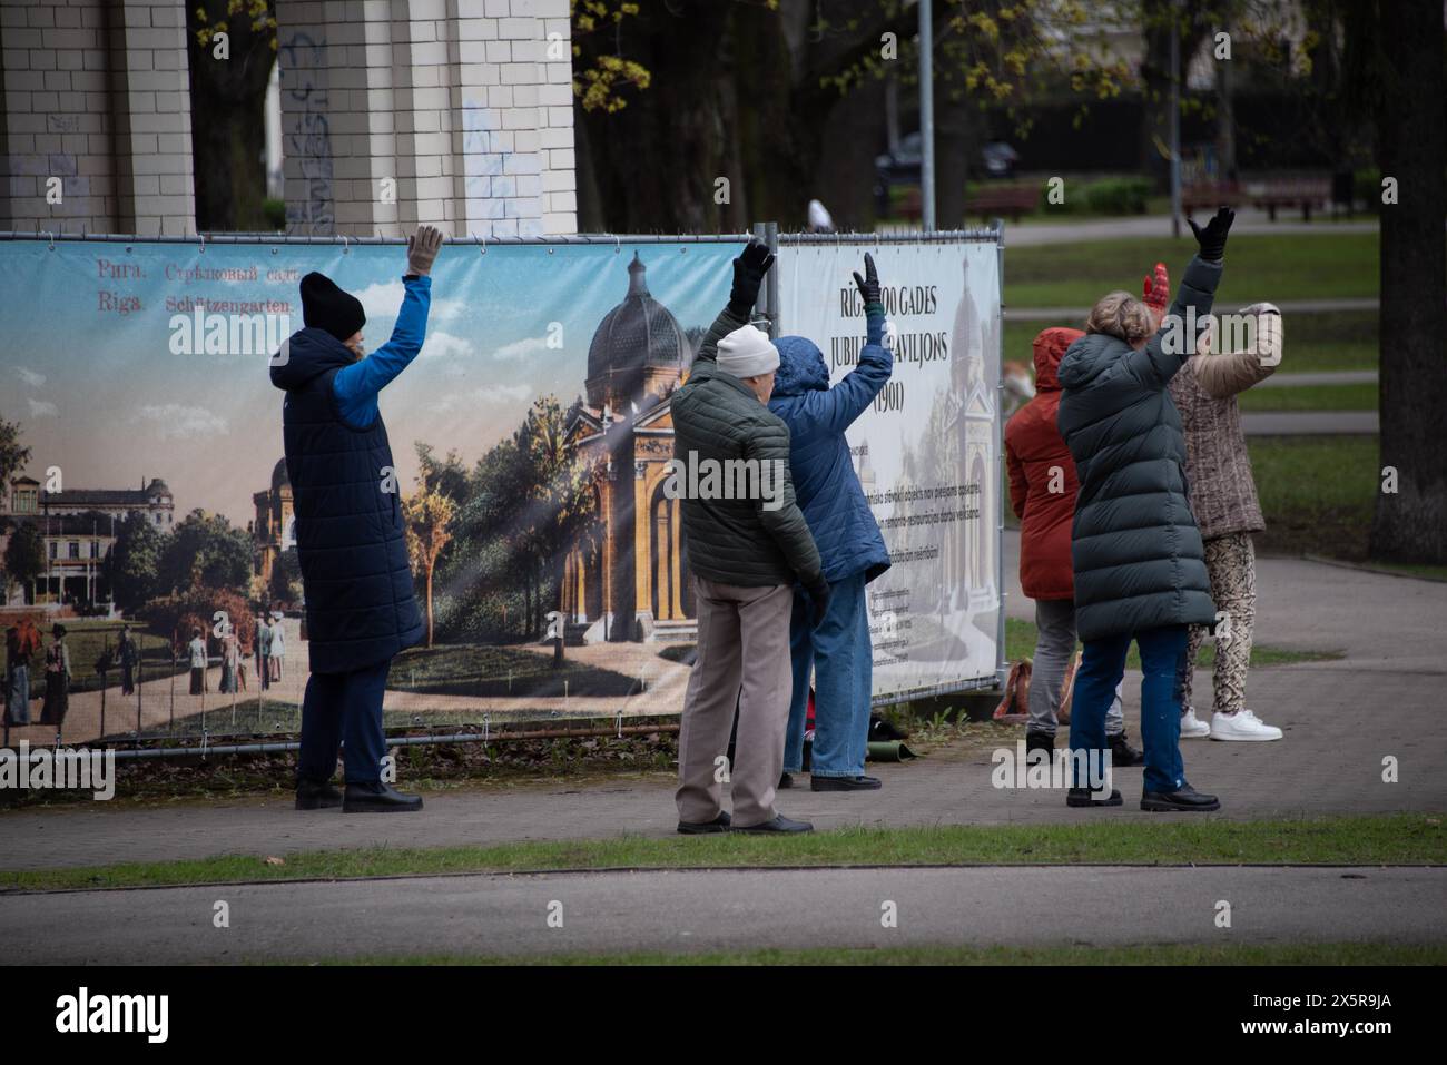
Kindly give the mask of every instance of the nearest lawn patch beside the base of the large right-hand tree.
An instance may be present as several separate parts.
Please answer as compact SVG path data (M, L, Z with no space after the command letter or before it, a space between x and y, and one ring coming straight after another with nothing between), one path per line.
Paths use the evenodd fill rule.
M1266 531L1257 550L1367 556L1380 486L1376 437L1249 437Z

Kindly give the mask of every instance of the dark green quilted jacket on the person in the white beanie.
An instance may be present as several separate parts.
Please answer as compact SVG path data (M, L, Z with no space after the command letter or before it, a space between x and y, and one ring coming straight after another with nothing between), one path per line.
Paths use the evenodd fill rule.
M822 579L822 567L819 548L794 501L789 427L716 362L719 340L747 324L747 318L725 310L703 339L689 381L670 404L673 454L684 464L708 459L767 462L770 470L783 473L783 505L765 509L763 499L695 499L682 493L689 567L725 585L757 587L797 580L807 586Z

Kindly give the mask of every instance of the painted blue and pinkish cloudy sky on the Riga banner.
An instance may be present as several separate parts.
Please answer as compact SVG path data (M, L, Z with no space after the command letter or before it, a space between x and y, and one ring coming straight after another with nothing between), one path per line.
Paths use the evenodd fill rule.
M407 269L401 246L0 243L10 278L0 301L0 418L22 427L27 472L59 466L67 489L137 488L162 478L178 519L192 508L236 525L271 486L282 456L281 392L268 357L174 355L171 318L188 300L275 301L301 328L298 281L321 271L366 308L368 350L391 334ZM519 424L531 402L566 408L583 392L599 321L628 292L634 252L679 324L706 328L728 298L741 245L444 246L421 356L382 394L398 472L417 472L414 441L456 449L472 464ZM255 279L197 279L194 271ZM23 284L17 284L23 279ZM282 305L284 304L284 305ZM547 346L551 323L561 346ZM556 331L556 330L554 330Z

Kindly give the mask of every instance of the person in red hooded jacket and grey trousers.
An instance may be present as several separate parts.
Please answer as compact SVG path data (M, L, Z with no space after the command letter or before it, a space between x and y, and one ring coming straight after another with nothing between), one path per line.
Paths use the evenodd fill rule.
M1055 415L1061 382L1055 376L1065 349L1084 336L1078 328L1048 328L1035 337L1035 398L1004 427L1010 506L1020 519L1020 589L1035 599L1035 661L1030 670L1030 721L1026 758L1053 757L1056 715L1065 673L1075 658L1075 579L1071 521L1075 517L1075 462ZM1106 715L1113 765L1140 765L1145 757L1126 741L1120 687Z

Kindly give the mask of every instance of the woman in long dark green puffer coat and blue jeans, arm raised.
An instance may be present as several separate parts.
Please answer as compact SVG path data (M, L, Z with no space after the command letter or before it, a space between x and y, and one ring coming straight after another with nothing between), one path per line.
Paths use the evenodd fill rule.
M1085 644L1071 710L1078 786L1066 796L1071 806L1121 802L1119 792L1092 799L1079 773L1085 764L1110 764L1106 710L1134 640L1145 673L1140 807L1220 809L1215 796L1187 783L1181 763L1176 674L1188 625L1214 625L1215 603L1188 502L1181 415L1166 385L1205 328L1233 218L1223 207L1205 229L1191 223L1200 252L1163 320L1140 300L1111 292L1095 304L1085 336L1061 360L1056 424L1079 479L1071 557L1075 618ZM1098 778L1091 784L1100 787Z

